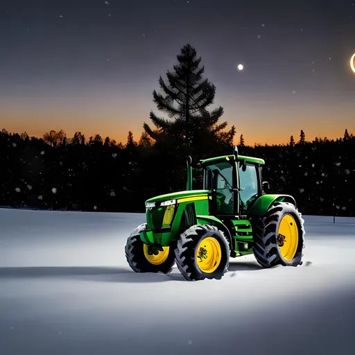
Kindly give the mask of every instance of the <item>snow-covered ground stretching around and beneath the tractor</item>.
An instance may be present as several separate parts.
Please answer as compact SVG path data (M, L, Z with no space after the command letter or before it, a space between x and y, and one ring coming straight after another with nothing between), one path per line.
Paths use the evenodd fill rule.
M144 214L0 209L0 354L355 354L355 218L304 216L304 264L136 274Z

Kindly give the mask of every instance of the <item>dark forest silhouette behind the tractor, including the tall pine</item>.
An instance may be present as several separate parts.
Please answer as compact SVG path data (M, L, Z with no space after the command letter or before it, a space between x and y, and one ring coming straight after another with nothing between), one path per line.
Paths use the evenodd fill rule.
M144 201L186 187L186 157L193 162L233 154L236 128L220 123L223 107L208 111L216 87L202 80L204 67L196 50L186 44L173 72L159 78L153 91L157 110L150 112L154 128L144 123L135 141L125 144L82 132L67 137L63 130L42 138L24 133L0 133L0 207L69 211L144 212ZM290 137L286 145L245 146L239 153L265 159L263 180L272 193L295 197L303 214L354 216L355 137L345 130L338 139ZM202 188L194 169L193 188Z

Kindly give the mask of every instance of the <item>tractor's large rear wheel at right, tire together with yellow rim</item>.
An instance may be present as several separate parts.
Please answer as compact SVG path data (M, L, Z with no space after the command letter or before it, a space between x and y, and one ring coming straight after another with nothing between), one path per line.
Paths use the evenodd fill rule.
M302 265L304 220L294 205L277 202L252 220L254 257L263 268Z

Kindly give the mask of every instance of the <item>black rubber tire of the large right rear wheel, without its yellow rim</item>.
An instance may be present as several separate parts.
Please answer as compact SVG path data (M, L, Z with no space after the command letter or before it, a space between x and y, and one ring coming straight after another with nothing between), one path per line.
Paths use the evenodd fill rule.
M284 259L278 245L279 225L282 218L287 214L291 215L293 220L295 220L298 232L297 248L293 258L290 260ZM272 268L277 265L302 265L305 234L304 220L294 205L287 202L276 202L268 209L265 215L252 220L251 223L254 257L263 268Z

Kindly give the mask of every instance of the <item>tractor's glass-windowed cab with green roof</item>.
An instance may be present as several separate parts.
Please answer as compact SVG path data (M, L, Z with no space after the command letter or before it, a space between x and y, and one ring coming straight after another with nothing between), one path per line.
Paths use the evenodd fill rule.
M202 160L203 189L212 191L215 216L246 216L262 194L263 159L228 155Z

